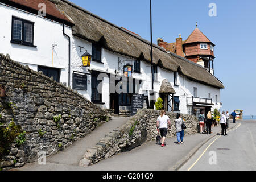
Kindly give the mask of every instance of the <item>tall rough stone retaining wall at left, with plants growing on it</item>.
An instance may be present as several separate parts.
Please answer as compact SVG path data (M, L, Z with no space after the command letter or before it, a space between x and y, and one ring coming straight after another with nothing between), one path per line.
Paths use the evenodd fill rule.
M0 55L0 85L5 88L5 97L0 97L0 126L7 128L14 122L26 131L24 144L13 142L0 156L0 169L21 167L38 160L39 154L53 155L110 117L74 90L8 55Z

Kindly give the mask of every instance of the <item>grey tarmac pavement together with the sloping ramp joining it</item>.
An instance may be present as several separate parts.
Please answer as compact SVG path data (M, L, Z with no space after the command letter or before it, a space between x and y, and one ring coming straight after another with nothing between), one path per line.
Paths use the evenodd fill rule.
M221 126L213 127L212 135L192 134L184 136L184 144L177 144L177 138L167 138L166 147L155 141L148 142L129 152L114 155L89 167L79 167L87 148L93 147L105 134L120 127L129 118L115 117L104 123L85 138L75 142L64 151L46 159L46 165L38 162L26 164L14 170L24 171L168 171L177 170L196 153L205 142L220 133ZM230 123L230 129L237 124Z

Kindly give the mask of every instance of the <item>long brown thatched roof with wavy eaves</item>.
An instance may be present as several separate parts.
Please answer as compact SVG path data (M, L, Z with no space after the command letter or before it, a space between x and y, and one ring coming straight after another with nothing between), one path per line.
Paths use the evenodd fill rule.
M74 22L75 26L72 27L74 36L89 42L100 43L103 48L109 51L151 63L150 42L147 40L67 0L57 1L56 6ZM162 47L156 44L153 44L153 63L168 71L178 71L179 68L182 68L182 73L195 81L224 88L222 83L203 67L195 66L191 61L184 61L179 56L168 55Z

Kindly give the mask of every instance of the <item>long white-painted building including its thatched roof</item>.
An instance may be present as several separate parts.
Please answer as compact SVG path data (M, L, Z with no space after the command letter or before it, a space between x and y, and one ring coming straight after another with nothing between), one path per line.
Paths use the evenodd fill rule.
M51 2L46 1L47 3ZM152 93L151 63L148 55L150 43L147 40L69 1L59 1L54 6L66 17L61 16L66 23L64 32L67 36L63 34L63 24L59 19L55 19L59 20L57 22L42 18L1 3L0 15L2 17L5 15L6 18L0 20L1 24L5 24L5 28L0 30L0 41L3 42L0 52L9 53L11 59L27 64L36 71L42 67L50 70L57 68L60 82L70 85L97 105L114 109L116 114L122 113L123 110L131 110L131 98L134 93L144 94L147 97L146 106L151 108L154 107L158 97L167 96L164 109L168 111L196 115L202 109L205 112L209 109L212 111L214 108L220 109L220 89L224 86L200 65L193 64L173 53L168 54L163 48L154 45L155 94L150 96ZM34 23L33 46L11 43L13 17ZM68 49L68 36L70 49ZM52 59L54 44L57 46L53 49ZM81 56L85 51L92 55L90 67L82 67ZM134 90L127 94L119 94L116 89L113 92L113 86L118 87L119 80L116 82L110 80L112 77L124 76L126 66L131 67L130 78L134 79L132 84ZM102 73L105 74L104 78L97 80L98 75ZM170 96L159 94L165 79L175 90L174 97L172 94ZM153 99L150 100L150 98Z

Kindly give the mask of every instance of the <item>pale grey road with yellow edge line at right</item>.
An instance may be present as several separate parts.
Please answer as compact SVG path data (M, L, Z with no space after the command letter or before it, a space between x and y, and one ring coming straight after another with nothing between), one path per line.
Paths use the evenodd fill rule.
M205 143L180 170L255 171L256 121L238 123L237 129L229 131L228 136L218 135Z

